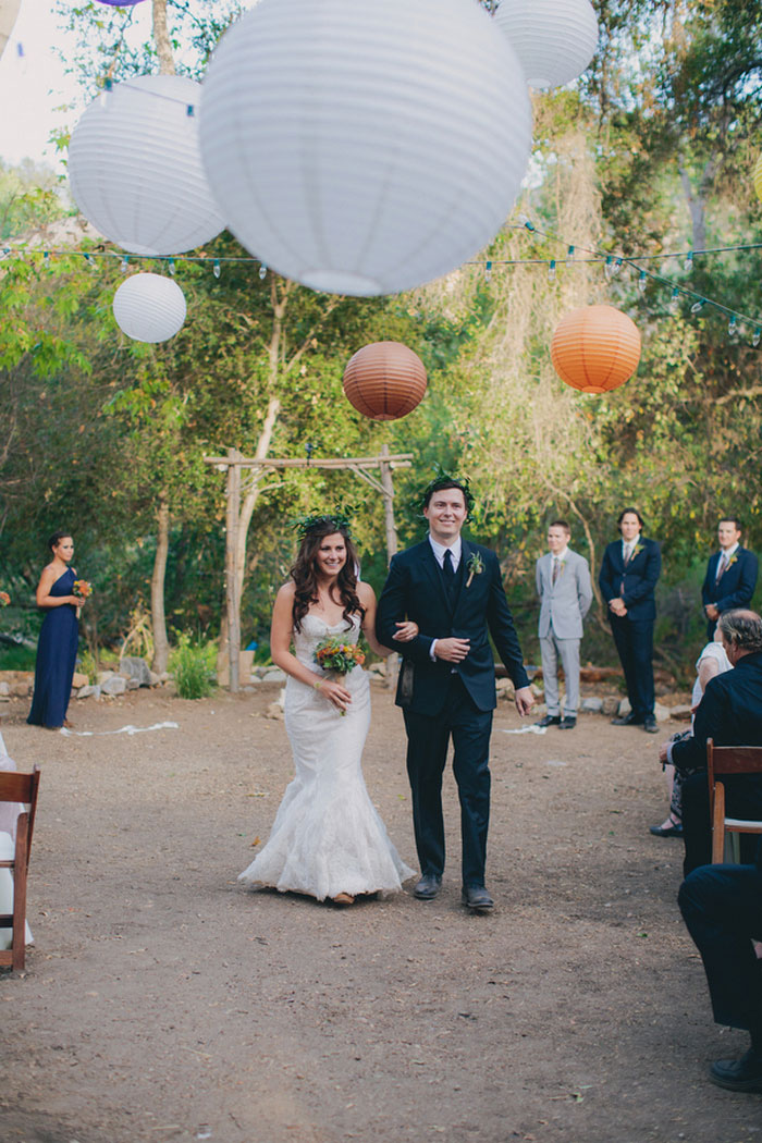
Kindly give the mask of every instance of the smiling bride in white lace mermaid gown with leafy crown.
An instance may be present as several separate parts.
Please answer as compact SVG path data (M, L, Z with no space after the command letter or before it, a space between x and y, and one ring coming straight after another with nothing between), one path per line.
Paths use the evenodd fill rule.
M247 887L272 887L351 905L362 893L392 893L414 876L374 808L361 758L370 725L370 687L361 666L331 677L315 662L327 638L355 645L362 630L377 655L391 655L375 634L376 597L356 577L348 520L308 517L291 578L273 608L271 653L289 676L286 730L295 777L264 849L240 876ZM415 639L415 623L395 637ZM291 644L294 652L291 652Z

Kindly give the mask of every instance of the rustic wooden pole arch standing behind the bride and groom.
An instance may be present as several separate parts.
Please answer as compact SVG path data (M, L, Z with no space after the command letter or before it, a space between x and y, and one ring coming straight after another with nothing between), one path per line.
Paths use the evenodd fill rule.
M386 531L386 563L391 563L396 552L396 525L394 521L394 469L409 469L412 453L391 455L383 445L379 456L307 458L254 458L246 457L238 449L228 448L225 456L204 456L207 464L214 464L226 473L226 528L225 528L225 600L227 605L227 631L230 655L230 689L240 690L241 652L241 589L246 537L241 536L241 491L244 471L249 473L249 485L257 483L266 473L276 469L338 469L353 472L377 491L384 503L384 526ZM378 477L376 475L378 472ZM243 542L242 542L243 541Z

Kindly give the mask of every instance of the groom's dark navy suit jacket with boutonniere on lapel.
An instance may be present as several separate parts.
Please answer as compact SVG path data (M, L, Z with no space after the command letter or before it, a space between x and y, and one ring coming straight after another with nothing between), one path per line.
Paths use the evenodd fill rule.
M378 601L376 634L386 647L399 649L403 658L396 704L417 714L431 717L442 711L454 666L478 709L488 711L495 708L495 658L490 634L514 686L529 686L497 555L470 541L462 539L462 544L451 602L428 539L393 557ZM471 574L468 562L474 555L481 559L483 570L474 574L466 586ZM418 624L419 634L411 642L395 644L394 624L406 616ZM433 640L450 637L471 640L466 658L456 664L432 661L430 650Z

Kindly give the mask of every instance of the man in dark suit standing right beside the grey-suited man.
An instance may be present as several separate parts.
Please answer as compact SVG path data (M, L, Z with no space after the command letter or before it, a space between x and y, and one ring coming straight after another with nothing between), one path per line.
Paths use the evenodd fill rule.
M621 539L603 553L599 584L609 605L609 623L625 672L631 711L611 721L615 726L642 726L657 734L653 717L653 589L661 572L661 552L653 539L641 535L643 518L626 507L617 521Z

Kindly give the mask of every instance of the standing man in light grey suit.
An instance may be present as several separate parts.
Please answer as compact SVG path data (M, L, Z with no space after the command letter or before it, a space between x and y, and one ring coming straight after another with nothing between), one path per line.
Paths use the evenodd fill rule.
M566 520L554 520L547 529L550 552L540 555L535 569L540 598L539 646L547 714L537 726L572 730L579 706L579 640L583 620L593 602L589 567L584 555L569 547L571 529ZM559 702L559 658L567 684L563 718Z

